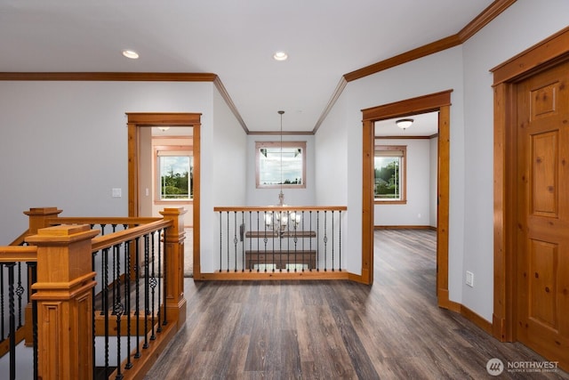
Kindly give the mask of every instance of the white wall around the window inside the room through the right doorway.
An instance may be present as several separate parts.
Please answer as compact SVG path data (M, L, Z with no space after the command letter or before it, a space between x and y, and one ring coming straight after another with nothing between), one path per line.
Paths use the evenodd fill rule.
M430 142L427 139L375 140L376 145L406 146L405 204L376 204L375 226L429 226L430 223Z

